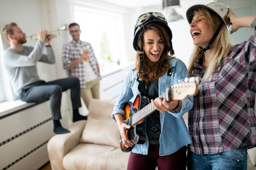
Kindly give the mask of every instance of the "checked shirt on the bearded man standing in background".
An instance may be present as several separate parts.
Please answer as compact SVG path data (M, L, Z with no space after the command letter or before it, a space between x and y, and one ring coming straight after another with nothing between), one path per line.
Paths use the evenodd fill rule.
M85 71L84 71L84 62L80 62L79 65L73 67L69 66L69 63L74 61L75 59L78 59L82 56L82 53L86 49L89 49L89 58L88 62L90 66L92 67L94 74L98 76L98 78L101 79L101 75L98 73L97 70L97 58L93 52L92 45L90 45L89 42L81 41L81 44L78 44L75 40L69 42L69 44L64 46L63 54L62 54L62 60L63 60L63 67L65 70L70 71L71 76L77 77L80 79L80 86L81 88L85 88Z

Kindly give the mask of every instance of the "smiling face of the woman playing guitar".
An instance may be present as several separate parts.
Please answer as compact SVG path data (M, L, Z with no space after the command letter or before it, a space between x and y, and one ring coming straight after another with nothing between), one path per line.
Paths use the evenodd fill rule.
M162 37L155 30L149 29L144 32L143 46L148 59L158 62L164 49Z

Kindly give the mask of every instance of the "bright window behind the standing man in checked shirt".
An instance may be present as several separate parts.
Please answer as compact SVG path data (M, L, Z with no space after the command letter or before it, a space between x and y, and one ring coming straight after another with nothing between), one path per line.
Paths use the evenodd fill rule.
M112 63L113 69L118 66L118 61L126 60L125 53L123 53L125 40L122 14L74 7L74 17L75 22L80 25L80 39L92 44L101 69L104 66L108 69L109 63Z

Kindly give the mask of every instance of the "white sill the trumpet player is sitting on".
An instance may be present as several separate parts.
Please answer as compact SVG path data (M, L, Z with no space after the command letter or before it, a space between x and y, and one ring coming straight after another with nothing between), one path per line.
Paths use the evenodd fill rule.
M1 117L7 114L19 111L20 109L30 107L31 105L35 105L35 103L26 103L21 100L1 102L0 103L0 119Z

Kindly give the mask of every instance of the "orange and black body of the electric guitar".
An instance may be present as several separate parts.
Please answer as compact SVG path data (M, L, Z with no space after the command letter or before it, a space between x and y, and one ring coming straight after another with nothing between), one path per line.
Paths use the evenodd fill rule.
M148 104L148 101L146 96L141 96L140 94L137 95L133 104L126 103L124 120L129 119L131 116L134 116L134 114L136 114L140 109L145 107L147 104ZM131 126L130 129L126 130L126 135L128 139L134 144L137 144L137 143L143 144L146 141L146 135L144 135L142 132L143 126L145 125L145 123L143 123L143 120L135 125L132 125L131 121L127 121L127 125ZM133 147L127 148L122 143L120 145L121 145L121 150L123 152L130 152L133 148Z

